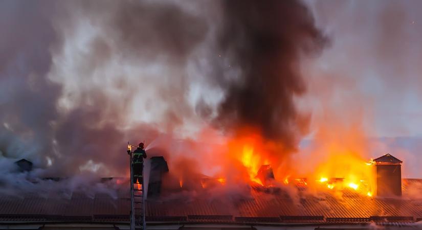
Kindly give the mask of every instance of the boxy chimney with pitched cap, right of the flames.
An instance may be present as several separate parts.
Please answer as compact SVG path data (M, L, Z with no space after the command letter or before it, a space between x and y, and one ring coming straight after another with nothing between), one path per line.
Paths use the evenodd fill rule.
M390 154L373 160L375 164L375 195L383 197L402 195L402 160Z

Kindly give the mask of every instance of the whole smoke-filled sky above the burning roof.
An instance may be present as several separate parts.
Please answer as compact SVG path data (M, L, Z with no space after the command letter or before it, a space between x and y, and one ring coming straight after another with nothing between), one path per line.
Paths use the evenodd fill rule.
M389 152L422 177L422 3L271 4L281 14L225 1L3 1L2 159L118 175L121 146L138 136L178 155L168 139L218 142L210 133L258 124L299 156L321 138L362 139L364 157ZM259 25L286 44L257 42Z

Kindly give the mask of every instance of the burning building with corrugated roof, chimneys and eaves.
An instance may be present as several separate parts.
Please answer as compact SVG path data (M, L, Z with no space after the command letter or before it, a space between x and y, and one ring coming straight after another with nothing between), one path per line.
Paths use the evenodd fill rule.
M288 186L277 185L270 166L264 165L257 178L264 185L251 183L247 194L217 193L218 178L207 178L204 193L164 195L168 183L168 167L163 157L151 159L149 188L146 200L146 221L149 229L280 229L336 228L369 229L419 228L422 220L422 199L407 196L415 189L422 192L422 179L404 179L400 175L401 160L390 154L373 160L376 170L376 196L360 193L358 188L342 188L338 197L332 190L307 191L306 178L295 179ZM385 167L387 166L387 167ZM398 179L398 181L397 181ZM215 180L216 184L211 183ZM203 180L202 182L204 182ZM272 181L272 183L268 183ZM334 184L344 181L322 179ZM97 192L88 196L74 192L68 198L31 194L0 196L0 227L20 229L128 229L130 195L127 179L108 178L103 183L119 183L117 196ZM321 182L321 181L319 181ZM283 184L283 183L281 183ZM269 190L270 187L278 190ZM358 185L361 186L361 185ZM294 190L294 191L292 191ZM173 191L174 192L174 191ZM179 196L175 195L179 194ZM396 196L390 196L394 194ZM398 196L402 195L402 196ZM388 197L385 197L388 196ZM405 198L406 197L406 198Z

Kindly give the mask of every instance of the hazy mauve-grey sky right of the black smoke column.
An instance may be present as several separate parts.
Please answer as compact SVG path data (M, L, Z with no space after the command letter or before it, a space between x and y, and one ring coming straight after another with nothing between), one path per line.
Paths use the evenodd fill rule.
M307 1L331 44L313 78L331 81L339 111L362 109L374 137L421 136L419 1ZM325 75L317 76L317 75ZM324 79L325 80L325 79ZM319 81L319 80L318 80ZM313 86L310 86L312 91ZM316 86L318 90L318 86ZM311 93L312 94L312 93ZM347 101L349 100L349 101ZM353 102L354 101L354 102ZM361 108L359 108L361 107Z

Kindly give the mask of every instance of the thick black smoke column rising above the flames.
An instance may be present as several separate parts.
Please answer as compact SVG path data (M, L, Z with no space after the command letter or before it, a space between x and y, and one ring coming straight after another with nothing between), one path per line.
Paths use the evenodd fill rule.
M239 72L219 76L226 96L216 123L258 129L287 150L307 127L294 97L305 92L301 55L321 50L325 38L299 1L223 1L220 55Z

